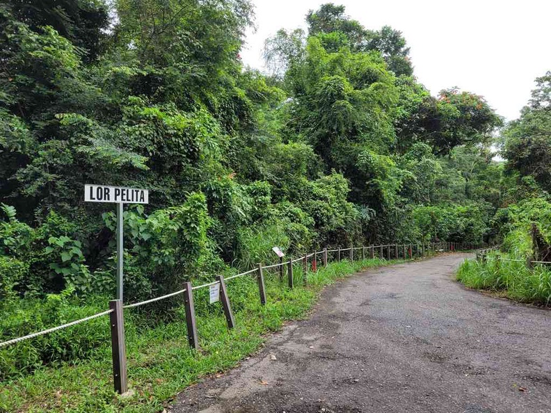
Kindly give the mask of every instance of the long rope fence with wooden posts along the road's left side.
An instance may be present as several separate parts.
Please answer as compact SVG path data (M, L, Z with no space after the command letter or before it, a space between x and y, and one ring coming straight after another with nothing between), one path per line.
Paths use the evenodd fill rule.
M415 248L415 254L413 253L414 248ZM337 248L334 250L328 250L327 248L324 248L324 250L311 252L310 254L305 254L302 257L298 257L296 259L289 258L289 260L285 262L283 261L282 258L280 258L280 262L277 264L270 264L266 266L263 266L262 264L258 264L258 266L256 268L253 268L252 270L248 270L248 271L245 271L244 273L232 275L231 277L224 278L222 275L217 275L216 281L209 282L207 284L192 286L191 282L186 282L184 283L184 289L175 291L173 293L168 293L166 295L161 295L160 297L151 298L150 300L134 302L128 305L122 305L122 300L111 300L109 302L109 310L102 311L101 313L94 314L93 316L88 316L86 318L81 318L80 320L72 321L70 323L58 325L56 327L51 327L41 332L28 334L24 337L18 337L16 339L0 342L0 348L19 343L20 341L49 334L51 332L56 332L58 330L65 329L67 327L71 327L72 325L86 323L87 321L93 320L95 318L99 318L101 316L106 316L109 314L109 324L111 327L111 352L113 355L114 386L115 386L115 391L122 394L127 391L127 368L126 368L126 350L125 350L126 347L125 347L124 318L123 318L123 311L122 311L123 309L136 308L142 305L150 304L152 302L165 300L166 298L174 297L175 295L183 294L189 346L191 346L191 348L197 349L198 334L197 334L197 327L195 325L195 307L193 303L193 291L195 290L220 284L218 300L221 302L221 305L223 307L223 311L227 321L227 327L233 328L235 325L235 321L234 321L234 316L233 316L232 308L230 304L230 298L227 295L225 283L227 281L233 280L234 278L255 273L258 281L260 302L262 305L265 305L266 292L264 289L264 273L263 273L264 270L268 270L271 268L279 268L278 272L280 275L280 282L282 282L285 267L287 267L287 280L288 280L289 288L292 289L294 288L293 264L295 264L298 261L303 262L303 282L306 285L308 283L308 274L310 273L310 264L312 265L311 270L313 272L317 272L317 270L319 270L319 267L317 265L317 260L319 255L321 255L321 258L322 258L322 263L323 263L322 265L326 267L328 266L328 254L333 252L338 252L337 261L341 261L344 258L348 258L349 260L353 261L354 259L358 259L358 254L354 254L354 250L362 250L362 254L360 257L361 259L366 259L366 255L367 255L366 251L368 251L369 259L377 258L377 259L390 260L392 258L401 259L402 257L403 259L406 259L407 257L409 257L410 259L420 258L420 257L424 258L424 257L429 257L431 254L436 254L436 251L453 252L458 249L471 250L471 249L474 249L474 245L458 244L458 243L428 243L428 244L410 243L410 244L368 245L368 246L362 246L362 247L351 246L349 248ZM342 254L342 252L349 252L349 254ZM386 257L384 257L385 253L386 253ZM346 255L348 257L346 257ZM477 253L477 257L478 256L479 255ZM312 257L314 258L311 259ZM333 258L335 258L335 256L333 256ZM312 262L310 263L310 261ZM518 260L518 261L521 261L521 260ZM537 261L534 261L534 262L537 262ZM213 291L211 291L211 293L212 292Z

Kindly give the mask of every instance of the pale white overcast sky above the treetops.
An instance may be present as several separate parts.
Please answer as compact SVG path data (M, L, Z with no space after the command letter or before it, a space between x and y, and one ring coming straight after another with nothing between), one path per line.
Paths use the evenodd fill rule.
M255 33L243 63L264 70L264 40L281 28L306 28L308 10L328 1L253 0ZM551 0L334 0L367 29L403 32L421 83L483 95L497 113L518 118L534 79L551 70Z

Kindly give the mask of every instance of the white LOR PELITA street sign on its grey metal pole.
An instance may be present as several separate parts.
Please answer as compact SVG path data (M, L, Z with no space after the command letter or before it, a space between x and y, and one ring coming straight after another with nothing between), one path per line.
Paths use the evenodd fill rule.
M147 189L122 188L120 186L84 185L85 202L109 202L117 204L117 300L122 302L122 278L124 245L124 204L148 204Z

